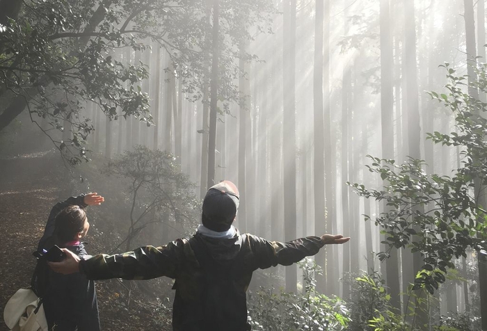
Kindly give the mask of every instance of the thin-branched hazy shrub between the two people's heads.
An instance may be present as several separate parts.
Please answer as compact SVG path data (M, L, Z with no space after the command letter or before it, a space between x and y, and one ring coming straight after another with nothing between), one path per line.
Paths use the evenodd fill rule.
M167 225L173 221L181 227L189 227L199 218L200 200L193 193L194 185L180 172L172 154L137 146L134 151L116 156L104 173L129 181L127 203L131 209L125 239L127 249L148 224Z

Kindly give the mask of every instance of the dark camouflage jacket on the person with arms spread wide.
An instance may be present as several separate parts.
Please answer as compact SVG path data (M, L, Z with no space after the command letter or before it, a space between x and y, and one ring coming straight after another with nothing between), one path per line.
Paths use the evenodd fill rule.
M253 271L288 266L317 254L322 246L317 236L280 243L238 232L232 239L196 234L157 248L95 255L81 260L79 268L92 280L175 279L175 331L244 331L250 330L246 291Z

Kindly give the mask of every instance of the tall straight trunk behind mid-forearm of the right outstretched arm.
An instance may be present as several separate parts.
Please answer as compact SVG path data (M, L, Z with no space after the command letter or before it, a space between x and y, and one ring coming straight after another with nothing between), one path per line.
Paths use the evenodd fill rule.
M282 161L284 168L285 240L296 236L296 0L284 1L284 117L282 119ZM296 265L286 268L286 291L296 292Z

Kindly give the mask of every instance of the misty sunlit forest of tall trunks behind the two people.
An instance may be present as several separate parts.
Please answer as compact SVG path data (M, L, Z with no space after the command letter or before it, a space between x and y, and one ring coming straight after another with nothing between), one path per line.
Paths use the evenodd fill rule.
M456 130L427 92L442 93L445 62L475 80L475 63L485 61L476 58L485 54L484 1L17 5L0 1L3 151L29 118L71 151L72 163L136 145L164 150L200 197L221 179L239 186L242 231L279 241L351 236L350 245L317 255L317 289L346 300L349 280L372 269L383 274L392 307L405 311L408 296L399 293L415 281L422 256L404 247L379 263L372 251L385 249L385 237L362 214L394 208L345 182L388 186L365 168L367 154L422 159L426 173L439 175L464 161L460 147L426 140ZM454 261L462 277L440 286L430 318L479 309L479 279L467 276L476 254ZM289 291L301 286L295 267L273 273Z

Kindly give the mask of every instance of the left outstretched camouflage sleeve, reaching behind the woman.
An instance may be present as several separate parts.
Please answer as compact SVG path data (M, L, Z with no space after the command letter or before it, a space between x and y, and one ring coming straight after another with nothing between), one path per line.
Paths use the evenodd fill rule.
M143 246L122 254L94 255L80 261L79 271L90 280L175 278L179 261L184 256L184 240L177 239L161 247Z

